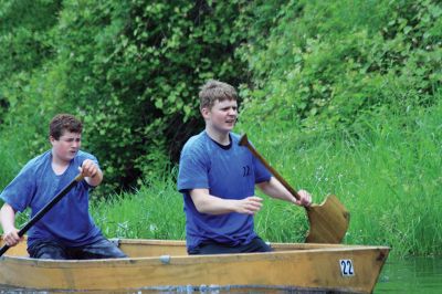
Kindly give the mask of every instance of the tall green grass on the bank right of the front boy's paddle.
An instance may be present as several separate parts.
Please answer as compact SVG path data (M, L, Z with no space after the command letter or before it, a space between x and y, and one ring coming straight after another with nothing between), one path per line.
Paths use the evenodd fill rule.
M345 243L390 245L398 255L441 254L441 117L442 104L396 114L385 109L351 132L240 128L316 203L328 193L338 196L351 213Z

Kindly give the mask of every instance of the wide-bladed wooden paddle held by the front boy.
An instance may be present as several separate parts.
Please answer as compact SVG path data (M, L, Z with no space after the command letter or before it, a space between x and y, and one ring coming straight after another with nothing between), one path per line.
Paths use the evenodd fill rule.
M249 143L248 135L242 135L240 146L248 149L272 172L272 175L297 199L301 196L293 189L284 178L273 169L269 162ZM312 204L305 208L309 221L307 243L340 243L348 229L350 213L334 195L327 196L323 203Z

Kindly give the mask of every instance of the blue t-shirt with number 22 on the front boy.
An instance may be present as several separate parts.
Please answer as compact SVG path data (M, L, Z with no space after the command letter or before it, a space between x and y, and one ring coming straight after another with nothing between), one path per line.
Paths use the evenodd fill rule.
M244 199L255 195L255 183L270 180L271 174L265 167L246 147L239 146L240 137L233 133L230 137L231 147L223 149L204 130L191 137L182 148L178 190L185 199L188 250L204 241L246 244L256 237L253 216L200 213L189 195L192 189L209 189L210 195L219 198Z

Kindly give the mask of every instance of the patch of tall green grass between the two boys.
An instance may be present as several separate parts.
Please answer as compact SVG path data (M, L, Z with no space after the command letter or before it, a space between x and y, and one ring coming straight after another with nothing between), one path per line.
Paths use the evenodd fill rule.
M134 193L93 201L96 224L109 238L185 239L182 197L173 179L147 179Z

